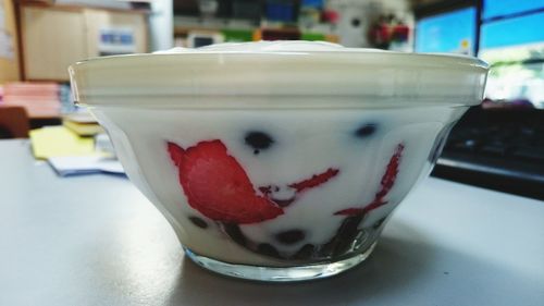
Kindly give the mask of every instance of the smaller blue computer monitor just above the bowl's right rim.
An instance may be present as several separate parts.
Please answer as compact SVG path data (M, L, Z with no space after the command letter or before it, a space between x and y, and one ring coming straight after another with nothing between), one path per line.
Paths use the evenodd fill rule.
M473 56L477 37L477 9L422 17L416 23L416 52L461 53Z

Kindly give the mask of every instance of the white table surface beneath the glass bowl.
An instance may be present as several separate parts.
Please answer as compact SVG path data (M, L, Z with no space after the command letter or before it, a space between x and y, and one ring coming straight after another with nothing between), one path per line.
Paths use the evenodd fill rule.
M428 179L332 279L228 279L185 258L128 182L58 178L0 142L0 305L544 305L544 203Z

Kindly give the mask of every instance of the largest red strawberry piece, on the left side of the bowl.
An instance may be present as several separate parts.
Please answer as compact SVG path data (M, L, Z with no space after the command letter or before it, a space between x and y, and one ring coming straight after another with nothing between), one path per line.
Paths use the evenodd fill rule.
M190 207L203 216L247 224L283 215L282 208L257 195L246 171L221 140L201 142L185 150L169 143L168 150Z

